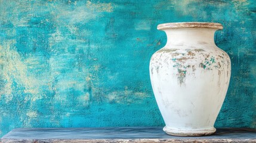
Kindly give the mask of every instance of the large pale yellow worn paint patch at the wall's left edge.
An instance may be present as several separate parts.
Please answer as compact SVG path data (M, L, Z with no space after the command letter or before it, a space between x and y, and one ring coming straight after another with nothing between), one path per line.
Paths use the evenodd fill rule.
M12 100L13 88L24 87L24 93L32 94L36 96L39 94L39 81L27 73L26 64L21 61L21 57L17 51L11 48L14 41L5 42L4 45L0 45L0 64L3 67L3 70L0 71L5 85L1 95L5 95L7 101ZM17 83L17 87L12 87L13 82Z

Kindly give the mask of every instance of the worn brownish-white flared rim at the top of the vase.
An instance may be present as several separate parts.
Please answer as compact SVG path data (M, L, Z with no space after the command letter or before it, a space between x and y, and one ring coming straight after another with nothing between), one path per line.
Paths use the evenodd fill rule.
M181 23L163 23L158 25L158 30L163 29L180 29L180 28L206 28L206 29L223 29L220 23L205 22L181 22Z

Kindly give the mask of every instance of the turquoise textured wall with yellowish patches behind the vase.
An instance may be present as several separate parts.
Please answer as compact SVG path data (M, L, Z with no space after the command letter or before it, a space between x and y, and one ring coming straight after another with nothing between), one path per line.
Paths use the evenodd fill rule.
M0 136L14 128L164 126L149 79L160 23L223 24L232 78L216 127L256 128L256 4L0 0Z

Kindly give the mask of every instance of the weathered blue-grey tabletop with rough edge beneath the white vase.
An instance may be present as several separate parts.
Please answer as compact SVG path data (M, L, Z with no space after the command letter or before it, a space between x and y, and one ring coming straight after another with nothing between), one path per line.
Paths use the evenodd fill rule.
M171 136L162 127L18 128L0 142L256 142L256 130L219 128L211 136Z

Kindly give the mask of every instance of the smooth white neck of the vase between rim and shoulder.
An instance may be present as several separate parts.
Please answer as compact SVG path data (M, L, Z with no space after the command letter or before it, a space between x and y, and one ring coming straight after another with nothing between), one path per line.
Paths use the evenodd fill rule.
M216 30L206 28L164 29L167 36L166 48L172 45L215 45L214 33Z

